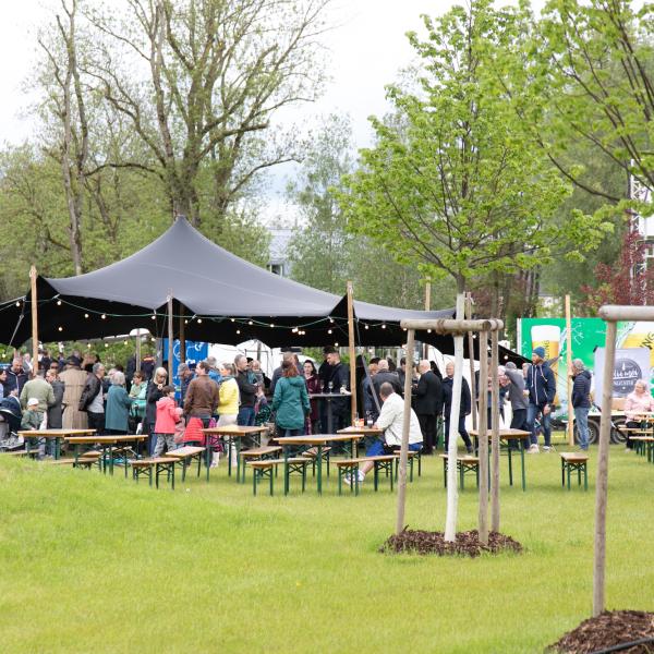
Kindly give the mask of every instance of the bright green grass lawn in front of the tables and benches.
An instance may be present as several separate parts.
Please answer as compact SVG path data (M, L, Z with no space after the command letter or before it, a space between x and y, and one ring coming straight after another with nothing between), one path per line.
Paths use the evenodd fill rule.
M560 448L564 449L564 448ZM654 465L613 446L607 605L654 610ZM519 556L388 556L396 494L253 497L227 477L174 493L97 471L0 459L2 652L541 652L590 616L590 489L561 489L558 456L502 459L501 531ZM250 482L249 477L249 482ZM467 480L468 481L468 480ZM281 477L276 489L281 491ZM476 493L459 529L476 526ZM441 530L439 459L409 486L407 522Z

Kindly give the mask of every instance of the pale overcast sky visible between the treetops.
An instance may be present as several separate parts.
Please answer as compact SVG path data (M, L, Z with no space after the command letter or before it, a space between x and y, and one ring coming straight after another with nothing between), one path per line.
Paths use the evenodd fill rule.
M303 113L347 112L355 145L370 145L367 117L386 112L384 86L412 60L405 33L420 31L422 13L441 14L452 4L453 0L335 0L331 15L337 26L324 37L331 82L320 101ZM1 5L0 144L16 144L33 129L24 116L29 98L22 88L36 56L36 28L52 16L60 0L1 0ZM289 120L296 117L289 112ZM277 190L283 187L283 174L275 175Z

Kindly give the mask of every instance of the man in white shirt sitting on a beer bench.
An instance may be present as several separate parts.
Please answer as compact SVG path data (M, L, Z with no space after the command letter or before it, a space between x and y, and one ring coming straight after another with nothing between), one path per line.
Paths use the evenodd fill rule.
M392 385L385 382L379 387L379 397L384 402L379 417L375 427L384 429L384 437L375 440L366 450L367 457L380 457L385 453L385 446L389 448L399 448L402 445L402 428L404 425L404 400L395 392ZM411 409L411 419L409 423L409 450L420 451L422 448L423 436L420 428L417 415ZM373 461L366 461L359 469L359 483L365 480L365 475L374 468ZM346 477L346 482L349 480Z

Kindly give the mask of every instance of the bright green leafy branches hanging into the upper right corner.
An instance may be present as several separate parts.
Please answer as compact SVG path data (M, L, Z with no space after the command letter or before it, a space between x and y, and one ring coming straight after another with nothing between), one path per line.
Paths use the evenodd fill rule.
M651 3L633 5L630 0L550 0L532 51L538 63L532 69L534 84L547 99L548 137L541 144L568 179L610 203L625 199L625 193L584 175L583 162L572 164L566 153L585 145L593 158L654 189L654 14Z

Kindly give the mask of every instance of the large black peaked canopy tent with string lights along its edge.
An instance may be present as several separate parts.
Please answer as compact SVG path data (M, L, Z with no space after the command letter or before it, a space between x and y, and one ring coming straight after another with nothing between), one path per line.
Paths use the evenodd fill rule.
M147 329L167 335L168 296L173 330L189 340L238 344L259 339L270 347L348 344L346 296L268 272L216 245L180 217L140 252L105 268L62 279L38 277L38 335L43 341L101 338ZM408 311L354 302L358 346L400 346L403 318L451 317L453 310ZM31 295L0 313L0 342L32 336ZM452 339L416 338L444 353ZM509 358L513 353L507 350ZM520 359L520 358L518 358Z

